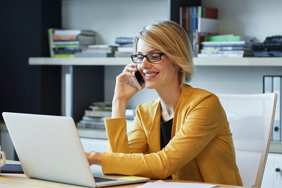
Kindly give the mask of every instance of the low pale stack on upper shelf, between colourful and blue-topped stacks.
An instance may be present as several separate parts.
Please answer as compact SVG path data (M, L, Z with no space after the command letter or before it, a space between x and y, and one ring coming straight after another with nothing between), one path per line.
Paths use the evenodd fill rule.
M88 45L76 52L75 57L114 57L117 46L111 45Z

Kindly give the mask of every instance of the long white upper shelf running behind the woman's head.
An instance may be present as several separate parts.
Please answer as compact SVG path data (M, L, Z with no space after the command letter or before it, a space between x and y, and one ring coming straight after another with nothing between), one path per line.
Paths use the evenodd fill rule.
M193 58L196 66L282 66L282 57ZM128 57L50 58L30 57L29 65L128 65Z

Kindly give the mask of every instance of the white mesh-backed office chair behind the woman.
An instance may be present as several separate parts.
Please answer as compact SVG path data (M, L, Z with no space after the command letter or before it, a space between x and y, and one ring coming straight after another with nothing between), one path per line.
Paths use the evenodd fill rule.
M216 94L231 130L245 187L260 187L269 150L277 93Z

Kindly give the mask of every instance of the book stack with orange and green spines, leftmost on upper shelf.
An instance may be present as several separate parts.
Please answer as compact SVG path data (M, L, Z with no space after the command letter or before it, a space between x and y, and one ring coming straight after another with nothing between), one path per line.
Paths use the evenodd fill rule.
M96 43L96 32L50 28L48 38L51 57L75 57L81 47Z

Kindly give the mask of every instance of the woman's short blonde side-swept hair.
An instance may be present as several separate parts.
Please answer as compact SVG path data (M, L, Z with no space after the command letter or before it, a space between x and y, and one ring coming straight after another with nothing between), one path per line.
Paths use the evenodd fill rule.
M187 33L173 21L157 21L141 29L133 40L134 53L137 52L138 40L167 55L179 70L179 83L189 82L194 73L193 51Z

